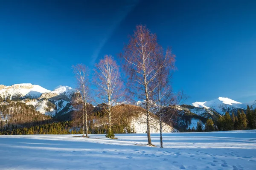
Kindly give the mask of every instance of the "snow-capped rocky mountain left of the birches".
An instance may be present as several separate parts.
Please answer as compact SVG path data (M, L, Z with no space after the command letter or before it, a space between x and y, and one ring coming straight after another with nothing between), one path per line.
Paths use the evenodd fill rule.
M71 98L76 92L76 89L61 85L52 91L30 83L0 85L0 98L23 102L35 107L36 111L52 117L73 111Z

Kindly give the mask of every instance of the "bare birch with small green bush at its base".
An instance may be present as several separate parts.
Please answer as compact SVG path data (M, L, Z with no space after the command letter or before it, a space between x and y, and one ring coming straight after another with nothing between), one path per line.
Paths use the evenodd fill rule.
M122 81L120 79L119 67L113 57L105 55L104 59L101 59L96 64L95 84L98 88L97 97L102 102L98 104L98 107L103 108L108 114L108 135L106 137L114 138L114 134L111 131L113 121L111 116L118 104L119 99L122 97Z

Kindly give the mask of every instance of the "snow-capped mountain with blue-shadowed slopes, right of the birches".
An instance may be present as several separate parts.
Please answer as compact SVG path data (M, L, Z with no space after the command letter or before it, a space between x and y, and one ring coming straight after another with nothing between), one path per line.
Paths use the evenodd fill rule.
M211 118L214 122L219 116L226 112L236 115L238 110L246 110L247 105L256 108L256 100L248 103L241 103L227 97L218 97L217 99L205 102L193 102L191 105L176 105L179 110L175 116L174 125L177 129L188 129L196 127L197 122L201 120L206 123L207 119Z

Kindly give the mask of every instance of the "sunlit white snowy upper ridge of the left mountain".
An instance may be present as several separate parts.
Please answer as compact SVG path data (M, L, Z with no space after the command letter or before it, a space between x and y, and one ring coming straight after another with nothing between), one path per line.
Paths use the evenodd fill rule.
M38 98L49 90L42 88L40 85L32 85L30 83L15 84L11 86L1 85L0 97L3 99L14 99L20 97Z

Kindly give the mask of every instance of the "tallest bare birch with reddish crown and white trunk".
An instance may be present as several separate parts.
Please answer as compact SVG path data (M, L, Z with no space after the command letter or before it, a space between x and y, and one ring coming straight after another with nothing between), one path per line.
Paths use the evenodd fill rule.
M146 26L138 25L130 36L128 45L124 47L124 68L128 75L127 85L131 93L145 101L148 145L152 145L150 137L150 109L153 92L156 88L155 79L164 65L157 63L157 58L163 52L157 43L157 36ZM169 59L168 51L166 59ZM162 62L166 64L167 62Z

